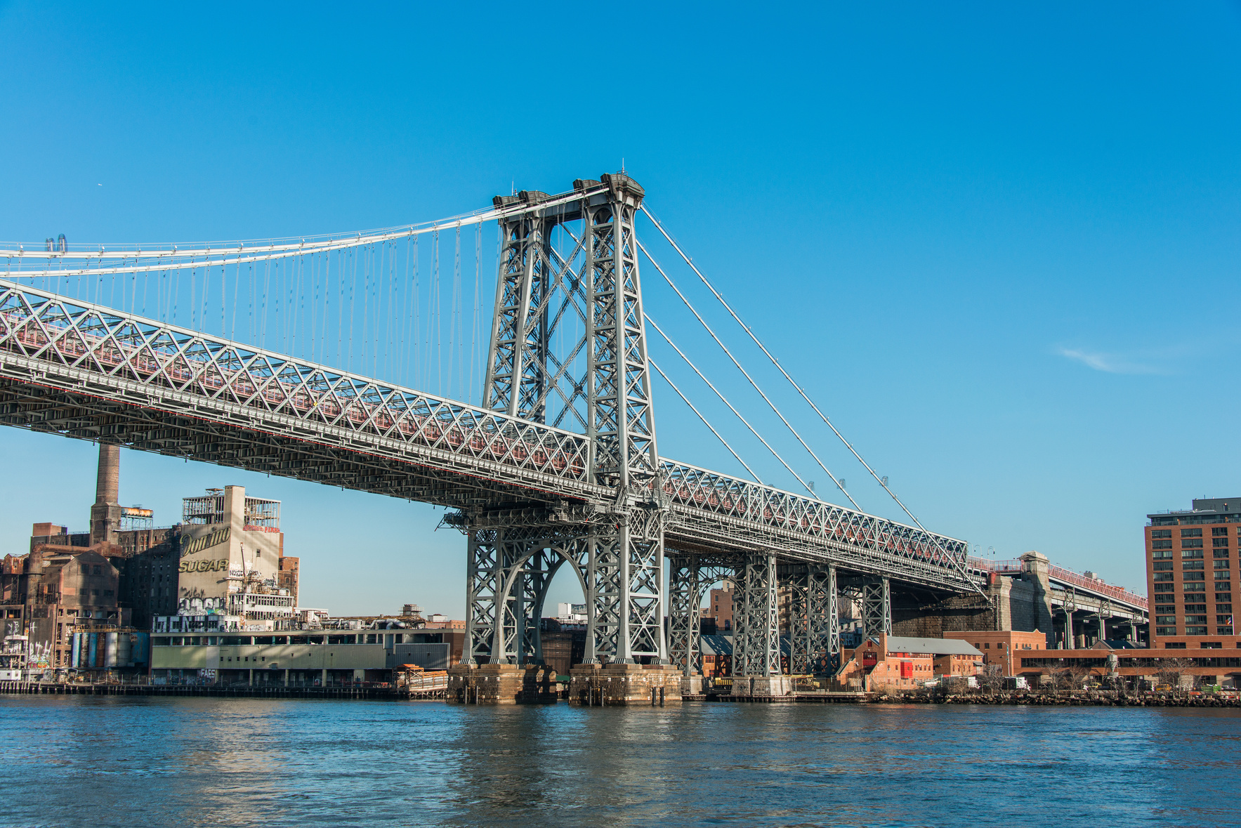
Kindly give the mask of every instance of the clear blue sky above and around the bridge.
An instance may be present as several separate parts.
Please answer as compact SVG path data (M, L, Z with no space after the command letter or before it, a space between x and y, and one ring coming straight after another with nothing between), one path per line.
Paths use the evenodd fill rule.
M624 159L928 528L1142 588L1148 511L1241 490L1236 4L515 9L0 2L0 238L365 230L513 184L565 190ZM823 480L656 276L652 315ZM761 376L859 503L898 516ZM664 454L735 470L656 394ZM706 394L747 462L795 487ZM0 430L0 457L2 551L37 520L86 525L91 444ZM308 606L462 614L464 542L433 531L438 510L124 464L122 499L159 523L208 485L283 499Z

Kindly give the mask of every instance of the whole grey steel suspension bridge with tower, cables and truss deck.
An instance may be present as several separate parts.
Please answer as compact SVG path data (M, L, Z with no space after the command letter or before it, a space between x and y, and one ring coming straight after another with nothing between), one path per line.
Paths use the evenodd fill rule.
M467 664L540 662L544 600L565 565L586 597L588 664L671 663L686 675L700 669L704 591L722 578L735 583L733 670L761 679L782 672L781 585L794 602L793 672L839 652L841 596L862 608L867 631L890 632L894 585L939 598L982 595L992 574L967 544L928 531L896 499L644 195L616 174L367 233L132 246L62 236L0 250L0 422L449 509L444 523L467 539ZM907 521L858 508L650 256L635 232L643 214ZM482 226L493 222L496 283L484 336ZM849 506L817 497L753 416L652 319L639 261ZM759 480L650 358L652 331L804 494ZM656 442L655 374L752 479L670 459L683 447ZM418 390L431 386L436 394Z

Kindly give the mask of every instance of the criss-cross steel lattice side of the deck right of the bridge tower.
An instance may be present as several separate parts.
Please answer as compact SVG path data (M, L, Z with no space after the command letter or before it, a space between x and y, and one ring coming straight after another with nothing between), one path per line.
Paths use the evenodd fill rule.
M664 459L661 467L664 493L674 504L808 539L861 547L941 575L949 571L965 578L965 541L688 463Z

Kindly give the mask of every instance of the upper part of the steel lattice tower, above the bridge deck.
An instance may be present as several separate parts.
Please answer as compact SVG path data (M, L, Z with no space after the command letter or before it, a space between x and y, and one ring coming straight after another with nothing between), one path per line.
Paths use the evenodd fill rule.
M484 400L510 416L580 426L594 482L642 488L659 467L634 235L643 190L625 175L602 178L575 181L577 201L496 196L496 207L526 211L499 222ZM557 228L567 254L552 243Z

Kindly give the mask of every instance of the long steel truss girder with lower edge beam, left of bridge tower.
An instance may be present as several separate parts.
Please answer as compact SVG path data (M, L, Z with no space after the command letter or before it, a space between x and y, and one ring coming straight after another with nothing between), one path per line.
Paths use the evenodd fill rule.
M169 412L545 487L589 477L580 434L2 279L0 354L10 377Z

